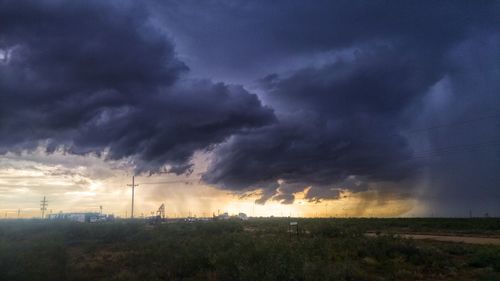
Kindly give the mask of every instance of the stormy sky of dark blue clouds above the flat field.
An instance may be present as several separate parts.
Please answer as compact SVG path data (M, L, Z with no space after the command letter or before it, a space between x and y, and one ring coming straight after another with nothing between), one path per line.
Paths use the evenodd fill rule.
M498 1L0 0L0 175L42 165L75 196L128 171L257 204L500 215L499 15ZM2 198L30 192L9 185Z

